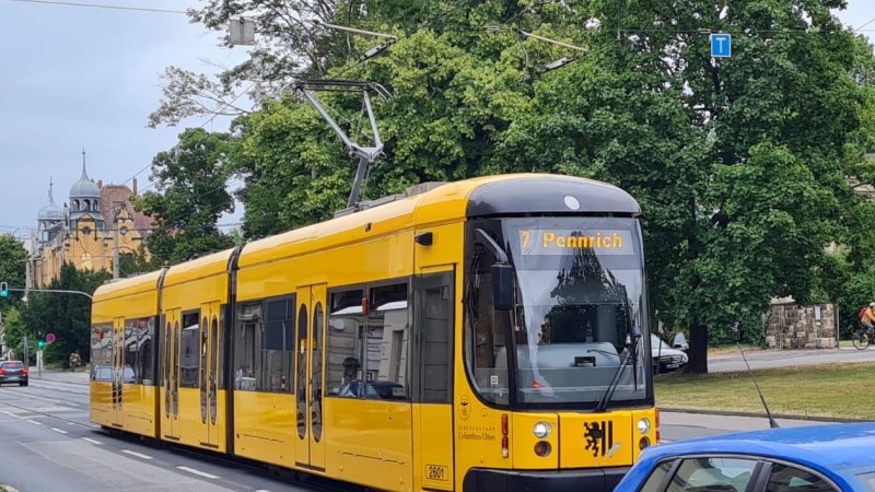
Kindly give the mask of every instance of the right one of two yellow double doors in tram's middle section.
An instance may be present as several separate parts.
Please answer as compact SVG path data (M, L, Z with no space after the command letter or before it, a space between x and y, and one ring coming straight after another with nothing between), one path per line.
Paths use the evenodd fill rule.
M219 302L200 305L199 329L200 444L219 447L217 388L219 383Z

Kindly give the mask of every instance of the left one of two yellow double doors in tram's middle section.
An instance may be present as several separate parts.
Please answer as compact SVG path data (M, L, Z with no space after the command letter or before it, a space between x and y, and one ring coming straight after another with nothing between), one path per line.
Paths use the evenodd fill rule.
M161 429L165 437L179 440L179 330L180 309L170 309L164 316L164 349L162 350Z

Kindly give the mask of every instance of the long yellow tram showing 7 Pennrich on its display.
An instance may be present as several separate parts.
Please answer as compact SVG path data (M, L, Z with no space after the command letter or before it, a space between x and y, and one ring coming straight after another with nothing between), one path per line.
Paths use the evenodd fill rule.
M97 289L91 420L383 490L612 490L656 440L638 203L419 188Z

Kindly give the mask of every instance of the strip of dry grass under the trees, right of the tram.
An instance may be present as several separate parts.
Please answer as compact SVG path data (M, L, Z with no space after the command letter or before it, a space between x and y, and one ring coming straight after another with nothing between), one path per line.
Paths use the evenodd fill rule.
M736 349L737 350L737 349ZM773 415L873 420L875 363L818 364L751 372L654 377L656 406L765 414L754 378Z

